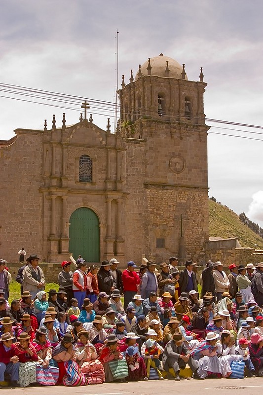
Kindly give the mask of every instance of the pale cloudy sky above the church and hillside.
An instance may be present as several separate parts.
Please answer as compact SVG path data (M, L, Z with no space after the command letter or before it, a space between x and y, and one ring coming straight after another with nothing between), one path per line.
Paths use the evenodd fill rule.
M118 29L119 76L126 82L130 69L135 75L139 63L162 52L186 64L188 79L198 80L203 67L208 118L263 126L262 0L1 0L0 6L0 83L113 102ZM67 124L78 121L78 111L64 111ZM19 127L42 128L44 119L50 127L52 114L59 126L64 111L0 97L0 139ZM102 128L108 117L113 123L111 112L96 115L94 106L90 112ZM263 140L263 130L209 124L217 126L208 136L209 195L263 226L263 141L213 134Z

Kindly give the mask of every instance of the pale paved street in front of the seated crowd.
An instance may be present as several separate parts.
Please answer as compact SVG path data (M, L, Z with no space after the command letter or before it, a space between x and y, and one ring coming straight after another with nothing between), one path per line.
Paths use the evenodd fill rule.
M54 391L55 390L55 391ZM12 395L48 395L54 391L56 395L163 395L171 391L177 391L179 395L224 395L226 392L230 395L255 395L263 392L262 378L246 378L244 380L220 379L220 380L174 380L148 381L135 383L113 383L90 385L86 387L30 387L17 388L12 390ZM2 389L1 395L10 395L9 389Z

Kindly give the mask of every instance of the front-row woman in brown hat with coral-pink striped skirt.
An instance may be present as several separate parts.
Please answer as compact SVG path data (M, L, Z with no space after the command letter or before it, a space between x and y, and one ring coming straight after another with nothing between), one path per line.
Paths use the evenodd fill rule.
M77 364L86 376L88 384L102 384L105 381L104 368L97 359L96 349L89 342L89 333L86 330L82 329L78 332L75 349Z

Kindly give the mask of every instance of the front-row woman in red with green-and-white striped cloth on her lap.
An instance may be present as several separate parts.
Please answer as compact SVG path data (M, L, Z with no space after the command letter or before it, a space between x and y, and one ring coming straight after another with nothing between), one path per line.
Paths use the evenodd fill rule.
M128 366L126 359L119 351L115 335L111 334L105 340L105 345L101 348L98 359L103 363L106 383L125 381L125 377L128 376Z

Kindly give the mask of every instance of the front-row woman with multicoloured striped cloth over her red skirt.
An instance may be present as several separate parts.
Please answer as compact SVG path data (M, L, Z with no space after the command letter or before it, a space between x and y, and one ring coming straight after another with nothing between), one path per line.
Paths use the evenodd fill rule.
M87 379L76 363L76 351L73 337L66 333L63 340L54 348L52 357L59 367L58 384L65 386L85 386Z

